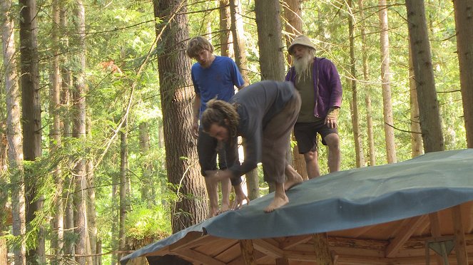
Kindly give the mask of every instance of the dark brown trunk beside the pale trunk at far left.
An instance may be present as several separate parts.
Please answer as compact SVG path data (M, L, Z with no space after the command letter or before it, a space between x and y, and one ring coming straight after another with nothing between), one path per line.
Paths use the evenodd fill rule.
M36 0L20 0L20 85L21 85L21 122L23 127L24 160L33 162L41 157L41 102L39 98L39 56L38 22L36 20ZM25 168L26 223L32 224L35 212L41 209L43 199L36 199L37 183L34 172ZM38 236L34 248L26 252L29 264L44 264L46 253L44 245L44 227L39 224ZM32 228L34 229L34 228Z

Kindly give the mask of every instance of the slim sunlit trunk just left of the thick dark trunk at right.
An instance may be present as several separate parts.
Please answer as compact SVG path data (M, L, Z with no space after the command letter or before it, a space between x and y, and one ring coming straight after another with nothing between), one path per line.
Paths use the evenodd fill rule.
M415 90L414 80L414 66L412 66L412 51L409 47L409 90L410 90L410 105L411 105L411 145L412 158L418 157L423 153L422 134L420 133L419 123L419 105L417 104L417 91Z

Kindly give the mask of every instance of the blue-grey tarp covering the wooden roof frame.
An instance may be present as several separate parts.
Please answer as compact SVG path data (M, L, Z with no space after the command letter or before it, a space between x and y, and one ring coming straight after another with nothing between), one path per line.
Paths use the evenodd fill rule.
M330 173L288 191L289 204L265 213L265 195L123 257L122 264L189 232L261 239L331 232L437 212L473 200L473 149L430 152L390 165Z

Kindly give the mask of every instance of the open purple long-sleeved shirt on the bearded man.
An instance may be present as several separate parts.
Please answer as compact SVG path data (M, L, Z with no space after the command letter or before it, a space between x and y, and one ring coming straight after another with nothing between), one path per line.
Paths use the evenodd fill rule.
M318 78L317 78L318 69ZM291 67L285 80L295 85L295 68ZM326 58L314 57L312 66L312 79L314 80L314 115L317 118L325 118L332 107L342 106L342 82L337 68L332 61ZM317 85L318 79L318 85Z

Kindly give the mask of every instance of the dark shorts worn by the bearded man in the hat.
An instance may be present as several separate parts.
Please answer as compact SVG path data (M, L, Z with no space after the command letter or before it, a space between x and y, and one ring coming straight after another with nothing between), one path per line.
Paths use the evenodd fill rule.
M296 123L294 125L294 136L300 154L317 150L317 133L322 137L323 145L327 145L324 140L327 135L331 133L338 134L337 128L328 128L328 126L324 124L324 121L325 120L320 120L316 123Z

